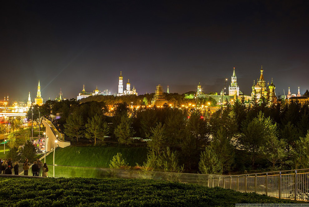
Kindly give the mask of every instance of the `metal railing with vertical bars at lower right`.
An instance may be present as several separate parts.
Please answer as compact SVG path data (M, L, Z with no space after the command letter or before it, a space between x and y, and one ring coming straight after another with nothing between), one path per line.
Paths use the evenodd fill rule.
M214 175L209 176L208 187L309 201L309 169L246 175Z

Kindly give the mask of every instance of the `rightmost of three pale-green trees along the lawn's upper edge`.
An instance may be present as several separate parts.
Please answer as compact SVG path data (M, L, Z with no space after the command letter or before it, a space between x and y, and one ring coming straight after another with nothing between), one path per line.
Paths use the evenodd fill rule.
M118 141L122 144L132 143L131 137L135 134L135 131L131 128L131 119L128 115L121 116L120 124L116 127L114 133L118 138Z

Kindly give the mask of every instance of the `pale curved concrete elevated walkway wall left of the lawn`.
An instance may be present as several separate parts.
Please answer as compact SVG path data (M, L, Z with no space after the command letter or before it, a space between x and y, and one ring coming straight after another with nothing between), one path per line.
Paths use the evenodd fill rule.
M55 140L57 140L56 146L61 148L65 148L71 145L71 142L64 140L64 134L61 134L56 130L56 127L49 121L47 118L43 117L42 120L43 125L46 129L46 142L47 142L47 151L50 151L55 146Z

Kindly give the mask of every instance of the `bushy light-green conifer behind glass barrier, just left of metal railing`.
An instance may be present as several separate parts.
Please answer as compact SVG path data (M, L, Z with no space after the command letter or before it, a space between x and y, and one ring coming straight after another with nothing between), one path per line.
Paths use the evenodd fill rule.
M222 174L222 164L210 146L201 152L199 170L203 174Z

